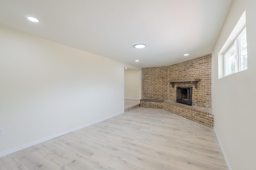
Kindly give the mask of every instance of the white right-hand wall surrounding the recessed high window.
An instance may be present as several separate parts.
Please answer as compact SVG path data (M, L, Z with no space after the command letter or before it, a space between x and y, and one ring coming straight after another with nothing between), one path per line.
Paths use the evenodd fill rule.
M234 0L212 53L215 130L232 170L256 170L256 1ZM248 69L218 79L218 53L246 10Z

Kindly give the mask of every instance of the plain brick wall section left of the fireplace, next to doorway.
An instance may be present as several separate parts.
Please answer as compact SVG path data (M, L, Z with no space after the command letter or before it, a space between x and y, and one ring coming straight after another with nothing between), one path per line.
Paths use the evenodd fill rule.
M168 99L168 67L142 68L142 98Z

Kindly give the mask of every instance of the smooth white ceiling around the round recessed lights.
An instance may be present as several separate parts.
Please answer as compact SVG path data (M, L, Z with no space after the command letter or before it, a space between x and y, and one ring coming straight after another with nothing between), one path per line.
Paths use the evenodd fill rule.
M0 0L0 25L139 67L168 66L212 53L231 4L232 0ZM32 23L26 16L40 22ZM136 49L136 43L146 48ZM184 57L185 53L190 55Z

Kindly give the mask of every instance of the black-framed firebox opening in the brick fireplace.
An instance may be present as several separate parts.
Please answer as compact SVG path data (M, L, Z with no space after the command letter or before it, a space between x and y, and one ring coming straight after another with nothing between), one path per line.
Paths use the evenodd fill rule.
M177 87L176 102L192 105L192 87Z

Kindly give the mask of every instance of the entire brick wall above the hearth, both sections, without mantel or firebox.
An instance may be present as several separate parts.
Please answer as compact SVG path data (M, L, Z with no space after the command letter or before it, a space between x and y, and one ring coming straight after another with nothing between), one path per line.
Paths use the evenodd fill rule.
M176 101L177 86L192 86L192 106L211 108L211 57L206 55L171 66L142 68L142 98ZM198 78L198 88L192 83L168 80Z

